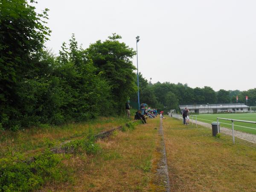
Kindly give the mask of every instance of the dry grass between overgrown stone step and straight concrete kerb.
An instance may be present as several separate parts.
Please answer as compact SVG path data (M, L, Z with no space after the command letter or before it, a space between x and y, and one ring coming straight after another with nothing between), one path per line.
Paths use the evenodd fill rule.
M159 119L150 119L135 129L116 131L97 143L102 152L65 160L73 181L49 182L41 191L148 191Z

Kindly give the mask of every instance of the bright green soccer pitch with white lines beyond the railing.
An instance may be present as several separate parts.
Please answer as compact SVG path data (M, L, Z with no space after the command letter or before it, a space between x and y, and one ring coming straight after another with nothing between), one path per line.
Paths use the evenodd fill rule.
M196 116L198 121L207 123L217 122L217 117L256 122L256 113L200 114ZM221 123L221 127L232 128L231 121L219 119L219 122ZM256 124L252 123L234 122L234 129L250 134L256 134Z

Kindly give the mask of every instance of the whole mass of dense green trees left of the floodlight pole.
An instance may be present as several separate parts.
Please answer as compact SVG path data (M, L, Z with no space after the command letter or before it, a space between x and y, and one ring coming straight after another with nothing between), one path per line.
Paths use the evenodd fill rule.
M26 0L0 1L0 129L120 114L137 90L135 52L119 35L87 49L73 35L58 56L45 50L47 11L37 14Z

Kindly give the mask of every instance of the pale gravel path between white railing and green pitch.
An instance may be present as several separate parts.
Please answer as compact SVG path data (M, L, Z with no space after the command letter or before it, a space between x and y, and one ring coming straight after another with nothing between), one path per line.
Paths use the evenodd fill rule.
M207 128L212 128L212 125L206 122L197 121L198 125L202 125ZM220 127L221 133L232 135L232 129ZM256 135L244 133L241 131L234 130L235 137L238 137L242 140L249 141L250 143L256 143Z

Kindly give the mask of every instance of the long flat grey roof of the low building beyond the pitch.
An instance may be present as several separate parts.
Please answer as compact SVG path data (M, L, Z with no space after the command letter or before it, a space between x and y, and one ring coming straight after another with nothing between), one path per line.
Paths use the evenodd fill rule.
M180 105L180 109L221 109L221 108L248 108L244 103L230 104L201 104L201 105Z

